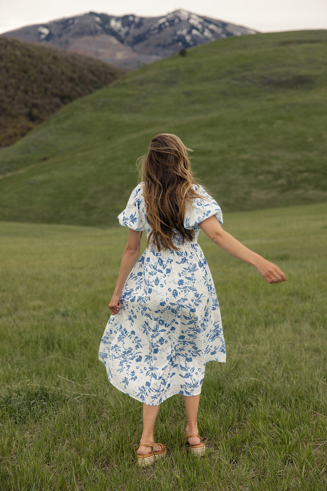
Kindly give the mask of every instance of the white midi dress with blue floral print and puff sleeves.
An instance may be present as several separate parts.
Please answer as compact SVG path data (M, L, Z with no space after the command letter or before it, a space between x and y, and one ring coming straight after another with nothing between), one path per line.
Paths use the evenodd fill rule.
M200 394L205 364L226 361L219 303L198 244L199 223L211 216L223 223L222 211L201 186L194 189L201 198L187 204L184 219L184 227L195 231L194 240L181 245L176 235L178 250L146 248L101 339L99 359L109 382L149 406L174 394ZM117 218L149 236L142 183Z

